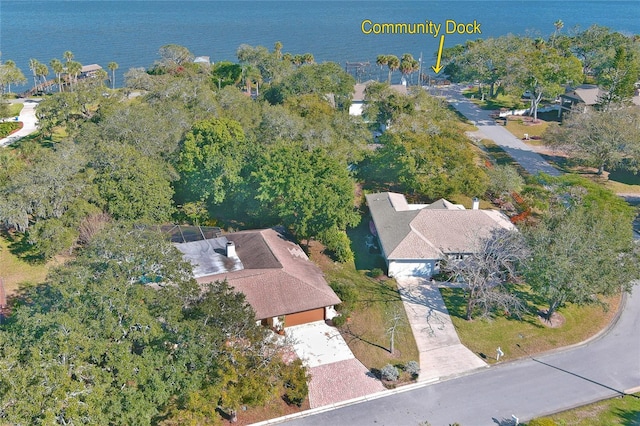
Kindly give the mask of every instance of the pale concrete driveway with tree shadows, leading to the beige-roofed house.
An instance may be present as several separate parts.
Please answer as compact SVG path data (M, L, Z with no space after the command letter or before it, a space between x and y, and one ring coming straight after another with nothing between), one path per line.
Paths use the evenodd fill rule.
M460 343L438 284L397 277L398 289L420 352L419 381L459 376L488 365Z

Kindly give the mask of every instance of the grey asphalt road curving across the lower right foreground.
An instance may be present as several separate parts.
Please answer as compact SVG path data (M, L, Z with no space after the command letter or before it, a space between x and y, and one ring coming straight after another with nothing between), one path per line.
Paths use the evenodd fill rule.
M512 425L640 387L640 285L598 338L543 356L298 418L290 425ZM635 390L637 392L638 390ZM640 422L638 414L636 421Z

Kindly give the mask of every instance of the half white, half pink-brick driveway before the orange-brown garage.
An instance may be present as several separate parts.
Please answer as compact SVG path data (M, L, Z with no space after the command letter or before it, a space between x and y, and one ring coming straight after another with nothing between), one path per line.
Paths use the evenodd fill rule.
M309 367L309 405L323 407L381 392L385 388L358 361L335 327L324 322L288 327L285 333Z

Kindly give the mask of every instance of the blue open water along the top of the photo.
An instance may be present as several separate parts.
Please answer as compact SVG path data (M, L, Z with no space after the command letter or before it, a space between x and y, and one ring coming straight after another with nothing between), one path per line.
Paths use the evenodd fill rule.
M0 52L29 74L29 58L49 63L71 50L83 64L148 67L158 48L177 43L212 61L236 60L242 43L314 55L316 61L370 61L379 54L423 55L433 65L439 39L365 35L362 21L459 23L476 20L482 34L447 35L445 46L507 33L548 37L597 23L640 34L640 1L0 1ZM375 71L375 67L373 72Z

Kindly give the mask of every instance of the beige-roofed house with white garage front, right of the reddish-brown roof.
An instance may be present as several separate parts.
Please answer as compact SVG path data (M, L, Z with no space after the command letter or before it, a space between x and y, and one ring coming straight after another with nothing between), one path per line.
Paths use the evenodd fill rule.
M388 275L426 276L439 271L440 261L473 253L478 238L492 229L513 229L498 210L471 210L440 199L431 204L409 204L393 192L368 194L371 227L380 242Z

